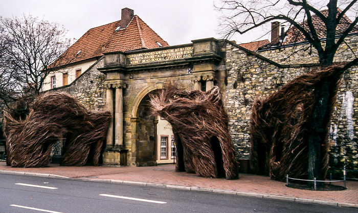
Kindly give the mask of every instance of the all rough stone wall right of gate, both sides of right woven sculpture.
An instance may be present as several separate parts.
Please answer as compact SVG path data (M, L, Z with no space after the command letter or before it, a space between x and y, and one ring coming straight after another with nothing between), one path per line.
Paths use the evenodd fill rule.
M356 41L356 38L351 38L351 40ZM277 51L270 50L273 54L273 58L270 59L279 62L285 57L285 53L291 50L289 48L287 52L282 48ZM353 50L356 51L354 48ZM280 54L278 52L280 52L281 58L279 58ZM261 53L259 52L259 54ZM351 59L351 55L347 54L347 52L340 52L340 57L342 60ZM303 66L302 63L312 63L314 59L310 61L307 58L309 57L303 57L302 61L297 59L296 62L300 62L301 65L291 64L290 67L279 68L267 60L262 60L233 44L228 44L226 107L229 115L231 136L238 159L250 158L250 116L254 98L272 94L288 81L308 72L310 67ZM354 66L347 70L343 76L332 115L330 132L332 142L331 166L334 158L337 158L335 166L342 167L347 165L348 169L354 170L358 169L358 126L356 125L358 115L358 72L356 68L357 66Z

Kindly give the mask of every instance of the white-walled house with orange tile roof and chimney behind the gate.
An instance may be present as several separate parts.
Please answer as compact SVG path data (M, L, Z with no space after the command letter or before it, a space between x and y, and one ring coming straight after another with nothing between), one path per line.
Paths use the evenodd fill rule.
M156 34L138 15L134 15L133 10L124 8L121 20L89 29L57 59L54 64L60 71L48 76L44 90L70 84L106 52L163 46L169 46L168 42Z

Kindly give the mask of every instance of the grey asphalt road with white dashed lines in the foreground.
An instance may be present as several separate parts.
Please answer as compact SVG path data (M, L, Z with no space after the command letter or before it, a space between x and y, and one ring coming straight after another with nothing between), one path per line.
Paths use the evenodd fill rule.
M110 182L0 174L0 213L2 212L357 212L357 210Z

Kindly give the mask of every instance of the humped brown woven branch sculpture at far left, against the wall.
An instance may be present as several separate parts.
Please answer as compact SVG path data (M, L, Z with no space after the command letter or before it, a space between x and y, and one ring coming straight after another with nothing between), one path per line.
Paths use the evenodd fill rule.
M4 114L8 166L48 166L63 138L62 166L99 164L110 112L89 111L69 94L55 92L37 97L25 119L14 117Z

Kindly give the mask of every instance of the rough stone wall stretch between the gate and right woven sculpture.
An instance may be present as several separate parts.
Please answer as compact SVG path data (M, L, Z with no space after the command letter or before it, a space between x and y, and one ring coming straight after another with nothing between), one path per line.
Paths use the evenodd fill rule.
M267 96L309 69L278 68L235 45L227 46L226 110L238 159L250 158L250 120L255 97ZM282 84L275 84L275 79Z

